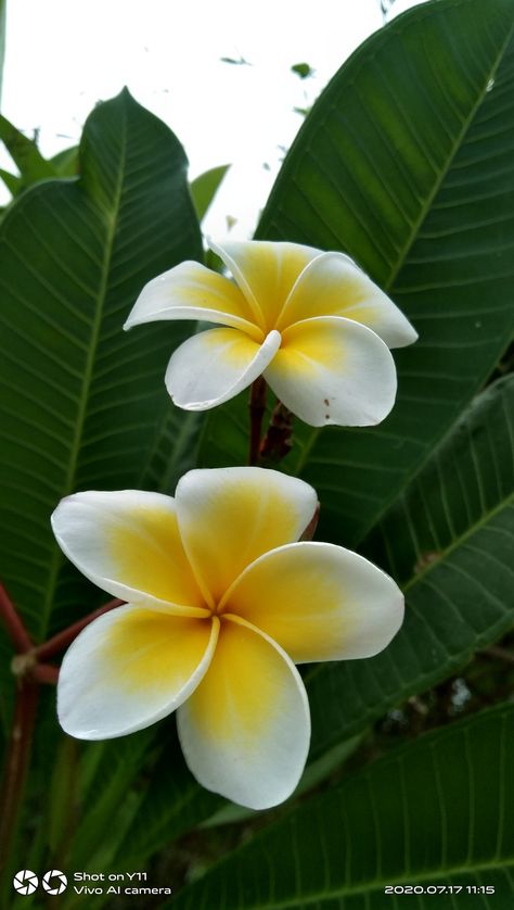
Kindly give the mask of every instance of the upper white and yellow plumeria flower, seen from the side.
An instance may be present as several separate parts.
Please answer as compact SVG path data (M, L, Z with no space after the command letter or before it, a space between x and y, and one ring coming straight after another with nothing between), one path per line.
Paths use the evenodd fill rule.
M233 280L184 262L145 286L125 324L224 327L194 334L174 353L166 386L176 405L215 407L262 375L313 427L363 427L387 416L397 384L389 347L417 336L352 260L297 243L210 247Z

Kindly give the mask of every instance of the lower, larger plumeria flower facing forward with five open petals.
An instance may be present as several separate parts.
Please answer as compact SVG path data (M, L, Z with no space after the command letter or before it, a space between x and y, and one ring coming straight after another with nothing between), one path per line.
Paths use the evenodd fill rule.
M52 516L62 549L127 601L64 657L64 730L106 740L177 710L201 784L253 809L286 799L310 738L295 663L370 657L403 615L399 589L367 559L300 540L316 508L307 483L261 468L190 471L175 498L63 500Z

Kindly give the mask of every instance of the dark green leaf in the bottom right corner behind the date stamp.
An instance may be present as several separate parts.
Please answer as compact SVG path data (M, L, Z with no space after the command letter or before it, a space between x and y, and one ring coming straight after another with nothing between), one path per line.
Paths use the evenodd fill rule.
M426 734L265 829L168 906L506 910L513 762L512 705ZM416 892L386 893L399 884ZM483 886L494 896L467 892Z

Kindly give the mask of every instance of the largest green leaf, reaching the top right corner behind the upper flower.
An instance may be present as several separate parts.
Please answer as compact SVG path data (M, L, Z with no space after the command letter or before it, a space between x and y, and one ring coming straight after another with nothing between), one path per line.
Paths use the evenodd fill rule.
M387 420L368 430L298 424L285 462L318 490L322 535L350 546L512 334L513 28L511 0L438 0L373 35L314 104L257 230L348 252L420 333L395 352L399 392ZM245 407L213 414L205 464L245 457Z

